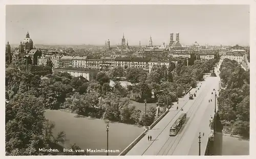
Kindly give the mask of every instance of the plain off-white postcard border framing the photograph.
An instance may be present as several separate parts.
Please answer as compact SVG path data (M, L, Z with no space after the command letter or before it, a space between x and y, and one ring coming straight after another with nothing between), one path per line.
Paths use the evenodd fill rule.
M1 90L1 103L2 104L2 110L0 111L1 113L1 118L3 122L1 122L1 158L2 156L5 156L5 58L4 58L4 52L5 52L5 5L228 5L228 4L237 4L237 5L250 5L250 155L249 156L201 156L201 157L225 157L225 158L252 158L253 156L255 157L256 155L256 147L255 147L255 123L256 123L256 111L255 111L255 75L256 72L255 70L255 63L254 63L254 59L256 59L256 0L159 0L159 1L140 1L140 0L91 0L91 1L81 1L81 0L37 0L37 1L32 1L32 0L1 0L1 7L0 10L2 11L1 16L1 24L0 25L0 32L2 35L0 38L0 44L1 44L1 74L3 75L3 77L1 78L1 85L0 87L2 89ZM253 107L254 106L254 107ZM9 157L14 157L14 156L9 156ZM125 158L142 158L142 157L147 157L147 158L197 158L199 156L18 156L18 157L22 157L22 158L27 158L27 157L53 157L53 158L57 158L57 157L62 157L62 158L70 158L70 157L74 157L74 158L78 158L78 157L91 157L91 158L101 158L101 157L110 157L110 158L114 158L114 157L125 157ZM253 158L254 158L253 157Z

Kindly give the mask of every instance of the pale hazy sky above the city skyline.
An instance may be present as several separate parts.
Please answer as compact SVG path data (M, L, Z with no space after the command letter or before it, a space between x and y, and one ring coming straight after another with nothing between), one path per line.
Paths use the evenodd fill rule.
M27 32L34 44L130 45L180 43L249 45L246 5L7 5L6 42L19 44Z

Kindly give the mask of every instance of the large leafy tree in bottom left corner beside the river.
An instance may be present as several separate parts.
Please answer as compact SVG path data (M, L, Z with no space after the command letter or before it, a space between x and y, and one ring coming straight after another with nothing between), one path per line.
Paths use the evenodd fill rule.
M16 94L6 105L6 152L8 155L38 155L39 148L47 147L41 136L45 122L45 111L42 105L44 104L41 98L27 93Z

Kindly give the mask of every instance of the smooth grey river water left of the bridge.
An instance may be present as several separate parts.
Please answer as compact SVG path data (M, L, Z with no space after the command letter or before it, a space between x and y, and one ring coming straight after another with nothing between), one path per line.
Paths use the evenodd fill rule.
M106 149L106 124L100 119L79 118L76 114L63 111L47 110L47 119L55 122L54 135L65 131L68 141L65 146L76 143L81 149ZM141 133L142 127L122 123L110 123L109 149L123 151ZM119 153L120 153L119 152ZM118 155L109 153L109 155ZM90 155L106 155L106 153L90 153Z

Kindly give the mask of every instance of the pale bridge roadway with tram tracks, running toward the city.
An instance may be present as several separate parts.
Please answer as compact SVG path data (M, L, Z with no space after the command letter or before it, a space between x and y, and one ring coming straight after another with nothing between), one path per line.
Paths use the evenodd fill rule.
M219 95L220 81L217 70L219 67L215 68L217 77L208 75L197 88L190 90L191 94L197 94L193 100L189 100L189 93L180 98L153 128L144 132L142 138L135 142L136 144L131 144L119 155L207 155L210 140L214 140L216 127L215 112L218 108L215 93ZM209 102L210 99L212 101ZM187 114L186 121L176 136L169 136L170 127L182 113ZM201 133L200 150L199 133ZM148 136L152 136L151 141L148 141Z

